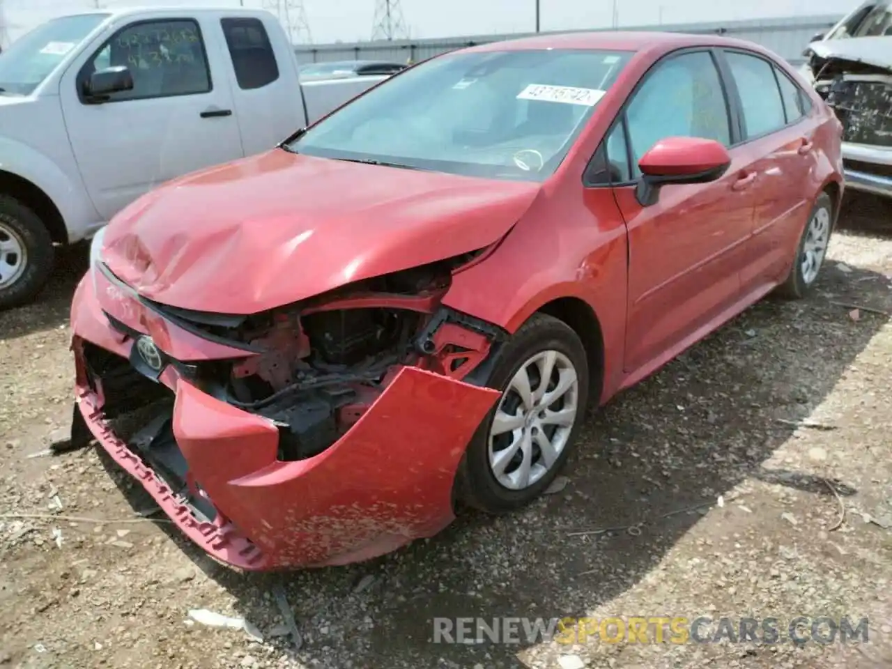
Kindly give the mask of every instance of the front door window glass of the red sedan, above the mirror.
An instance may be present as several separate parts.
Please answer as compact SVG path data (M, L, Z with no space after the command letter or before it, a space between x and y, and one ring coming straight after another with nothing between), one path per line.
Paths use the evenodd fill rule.
M702 137L731 145L722 82L712 55L705 51L657 64L629 103L626 119L636 177L641 156L665 137Z

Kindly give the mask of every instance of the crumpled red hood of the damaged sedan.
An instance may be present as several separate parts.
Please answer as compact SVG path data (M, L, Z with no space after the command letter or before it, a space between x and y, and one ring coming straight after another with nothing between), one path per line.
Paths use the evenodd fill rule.
M483 248L540 187L276 149L133 202L102 255L150 300L251 314Z

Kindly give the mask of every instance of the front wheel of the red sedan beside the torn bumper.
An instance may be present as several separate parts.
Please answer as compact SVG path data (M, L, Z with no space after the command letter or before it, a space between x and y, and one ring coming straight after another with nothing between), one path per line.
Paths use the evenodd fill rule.
M502 392L456 475L456 497L490 513L524 507L565 466L589 394L582 341L558 318L535 314L497 353L487 385Z

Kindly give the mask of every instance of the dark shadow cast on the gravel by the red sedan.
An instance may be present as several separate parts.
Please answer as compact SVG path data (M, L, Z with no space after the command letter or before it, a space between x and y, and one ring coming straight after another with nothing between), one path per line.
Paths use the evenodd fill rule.
M285 583L308 665L519 666L516 652L528 644L434 644L434 618L586 615L638 582L746 477L830 495L820 479L763 463L887 320L864 313L855 321L833 301L892 309L886 277L829 262L810 299L760 302L594 412L566 490L524 512L465 513L433 540L390 556L293 574L238 574L165 529L261 629L279 622L269 592ZM855 492L837 483L840 494ZM124 491L145 508L141 495ZM571 536L639 523L640 535ZM354 592L368 574L375 582ZM287 648L286 639L277 644Z

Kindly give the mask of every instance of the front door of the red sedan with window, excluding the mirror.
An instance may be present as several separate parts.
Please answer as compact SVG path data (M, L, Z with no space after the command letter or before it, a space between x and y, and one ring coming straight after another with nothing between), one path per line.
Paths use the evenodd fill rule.
M615 197L629 237L628 319L624 367L634 377L695 341L740 300L740 269L753 227L747 155L731 148L731 167L709 184L672 185L642 207L638 162L658 140L698 136L731 147L738 139L710 49L676 52L657 62L626 104L621 122L629 156L616 160L622 134L607 150L615 169L628 162Z

